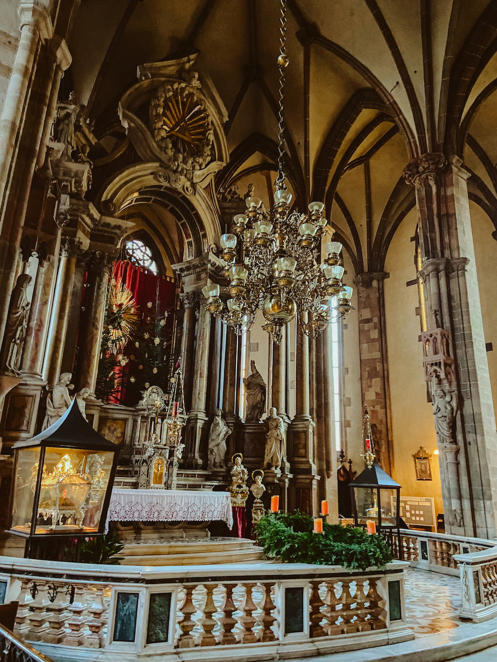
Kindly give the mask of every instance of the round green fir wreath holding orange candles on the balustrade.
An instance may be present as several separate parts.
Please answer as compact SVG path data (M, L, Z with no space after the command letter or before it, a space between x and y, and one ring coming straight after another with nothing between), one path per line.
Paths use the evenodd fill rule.
M351 570L384 568L392 552L381 536L357 527L323 522L323 535L313 533L313 518L297 511L268 514L256 527L258 544L266 557L287 563L341 565Z

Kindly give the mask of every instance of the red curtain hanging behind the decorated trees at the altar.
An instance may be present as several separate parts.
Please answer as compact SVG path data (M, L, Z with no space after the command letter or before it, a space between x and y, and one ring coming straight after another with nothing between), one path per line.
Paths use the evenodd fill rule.
M122 283L124 287L131 290L133 298L137 304L137 313L142 316L146 310L146 305L152 301L156 316L162 316L168 312L166 319L165 330L169 329L172 332L174 328L174 310L176 307L176 284L174 279L170 276L156 275L148 269L138 267L129 261L119 260L113 264L112 277L115 279L116 285ZM133 341L123 351L123 354L133 354L134 344ZM126 377L129 372L129 363L122 369L123 376ZM126 382L126 380L123 380ZM119 392L111 398L110 402L113 404L127 404L133 406L140 398L139 393L134 392L135 389L129 384L126 388L125 383L121 385Z

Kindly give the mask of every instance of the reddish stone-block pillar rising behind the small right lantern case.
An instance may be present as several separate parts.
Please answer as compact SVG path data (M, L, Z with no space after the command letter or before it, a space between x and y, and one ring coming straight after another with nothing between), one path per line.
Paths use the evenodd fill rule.
M359 315L359 356L362 410L367 405L371 423L376 424L380 457L386 473L394 468L388 358L386 354L384 279L388 274L360 273L357 285Z

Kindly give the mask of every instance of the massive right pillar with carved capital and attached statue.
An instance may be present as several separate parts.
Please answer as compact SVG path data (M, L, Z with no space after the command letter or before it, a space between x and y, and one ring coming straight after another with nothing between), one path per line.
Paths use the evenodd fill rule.
M445 340L425 349L441 451L447 532L495 538L497 433L486 359L467 191L459 158L423 154L404 170L414 183L420 228L428 330ZM426 348L425 342L423 345ZM427 354L427 355L426 355ZM433 393L435 391L435 393ZM445 420L437 420L439 408Z

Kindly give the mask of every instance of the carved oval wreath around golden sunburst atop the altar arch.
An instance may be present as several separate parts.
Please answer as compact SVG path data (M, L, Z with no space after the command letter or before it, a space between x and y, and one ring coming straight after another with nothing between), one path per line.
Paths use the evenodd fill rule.
M198 74L185 71L183 77L184 81L170 81L157 90L150 101L149 120L152 136L164 152L164 170L191 182L193 171L211 160L214 132L205 101L198 95Z

